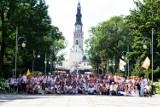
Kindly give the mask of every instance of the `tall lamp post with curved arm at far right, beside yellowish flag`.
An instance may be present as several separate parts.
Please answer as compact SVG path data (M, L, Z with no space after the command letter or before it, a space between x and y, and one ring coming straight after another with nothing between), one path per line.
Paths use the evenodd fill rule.
M143 48L144 48L144 49L147 49L147 45L144 44L144 43L145 43L145 40L146 40L146 39L150 40L150 53L151 53L151 55L152 55L152 56L151 56L151 57L152 57L152 58L151 58L151 60L152 60L152 82L153 82L153 60L154 60L154 59L153 59L153 40L154 40L153 35L154 35L154 31L153 31L153 28L152 28L152 30L151 30L151 38L152 38L152 39L144 38L143 41L142 41L142 42L143 42Z

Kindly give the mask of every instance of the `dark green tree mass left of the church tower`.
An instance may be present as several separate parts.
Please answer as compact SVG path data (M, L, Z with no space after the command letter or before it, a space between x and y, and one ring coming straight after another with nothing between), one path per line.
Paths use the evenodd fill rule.
M18 37L27 40L25 48L19 46L18 68L21 71L31 69L35 54L41 54L43 71L44 54L56 60L57 53L64 49L64 36L58 27L51 25L48 6L44 0L1 0L0 1L0 74L7 75L14 69L16 27ZM23 40L19 39L18 45ZM53 47L50 49L50 47ZM51 55L52 54L52 55ZM63 55L62 55L63 56ZM40 65L39 65L40 66Z

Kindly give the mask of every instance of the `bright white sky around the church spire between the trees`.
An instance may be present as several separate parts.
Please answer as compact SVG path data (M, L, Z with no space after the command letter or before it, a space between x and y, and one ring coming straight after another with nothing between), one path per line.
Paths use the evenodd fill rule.
M73 41L77 4L81 3L84 39L89 38L88 30L113 16L128 15L135 8L133 0L45 0L52 25L57 26L66 38L66 58ZM84 45L85 46L85 45ZM84 47L85 49L85 47Z

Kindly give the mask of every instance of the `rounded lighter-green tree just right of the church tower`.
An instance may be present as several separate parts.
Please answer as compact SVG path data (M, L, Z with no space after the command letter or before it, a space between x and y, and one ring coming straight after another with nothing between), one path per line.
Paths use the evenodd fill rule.
M114 16L92 27L90 32L91 36L86 43L91 62L93 64L98 62L101 67L106 68L109 67L109 60L115 57L117 69L121 52L126 51L129 43L127 39L130 37L130 29L124 16Z

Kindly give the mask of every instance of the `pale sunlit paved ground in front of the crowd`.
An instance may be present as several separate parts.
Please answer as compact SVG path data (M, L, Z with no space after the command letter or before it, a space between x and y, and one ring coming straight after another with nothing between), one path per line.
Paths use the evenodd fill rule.
M160 107L160 96L0 95L0 107Z

